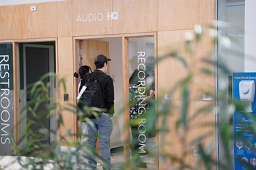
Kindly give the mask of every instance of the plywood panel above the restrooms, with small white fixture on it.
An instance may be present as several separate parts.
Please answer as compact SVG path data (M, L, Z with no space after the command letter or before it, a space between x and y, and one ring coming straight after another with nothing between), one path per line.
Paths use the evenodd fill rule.
M31 6L37 11L31 12ZM57 3L0 7L0 39L57 37Z

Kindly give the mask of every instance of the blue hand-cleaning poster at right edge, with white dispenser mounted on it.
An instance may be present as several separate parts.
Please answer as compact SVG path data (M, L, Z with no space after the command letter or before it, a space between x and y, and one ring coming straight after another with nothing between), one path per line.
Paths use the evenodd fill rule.
M233 100L241 103L233 113L234 169L256 169L256 73L233 73Z

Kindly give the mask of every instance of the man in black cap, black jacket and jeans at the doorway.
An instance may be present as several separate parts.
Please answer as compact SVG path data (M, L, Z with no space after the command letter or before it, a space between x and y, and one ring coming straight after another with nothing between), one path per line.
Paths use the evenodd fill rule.
M111 137L113 125L112 117L115 112L114 110L114 85L113 79L111 76L106 75L108 61L111 61L110 58L106 58L103 54L96 56L94 59L94 64L96 69L89 74L86 74L81 81L81 87L85 85L88 81L88 78L93 78L94 80L100 81L100 87L102 90L103 97L103 107L102 112L98 118L90 118L91 122L94 124L91 126L90 122L87 122L88 129L88 145L96 150L96 141L99 131L100 135L100 152L103 160L103 169L111 169L111 158L110 158L110 148L109 148L109 139ZM102 79L102 77L104 77ZM79 91L81 88L79 89ZM97 131L95 131L95 129ZM93 156L88 154L89 165L96 168L96 160Z

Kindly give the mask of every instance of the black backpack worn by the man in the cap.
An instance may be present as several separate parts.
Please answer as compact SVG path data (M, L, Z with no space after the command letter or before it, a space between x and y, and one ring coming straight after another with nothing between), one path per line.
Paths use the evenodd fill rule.
M104 75L100 80L95 80L91 78L91 74L88 74L85 91L81 95L78 103L79 109L83 112L83 118L96 118L101 116L102 112L107 112L104 107L104 101L102 97L102 90L100 83L106 78ZM81 90L83 87L81 88Z

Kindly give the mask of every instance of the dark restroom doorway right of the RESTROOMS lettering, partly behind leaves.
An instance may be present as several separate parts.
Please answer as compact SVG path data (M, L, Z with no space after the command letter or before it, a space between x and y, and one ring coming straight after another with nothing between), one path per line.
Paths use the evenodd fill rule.
M51 130L55 130L55 114L50 105L55 99L54 46L42 44L20 44L20 136L24 148L27 143L46 145L55 140ZM31 93L44 75L42 84L36 86L40 92ZM44 86L46 88L44 88ZM46 90L47 89L47 90ZM48 97L48 99L47 99ZM41 100L40 100L41 99ZM44 100L42 100L44 99ZM24 136L25 135L25 136Z

